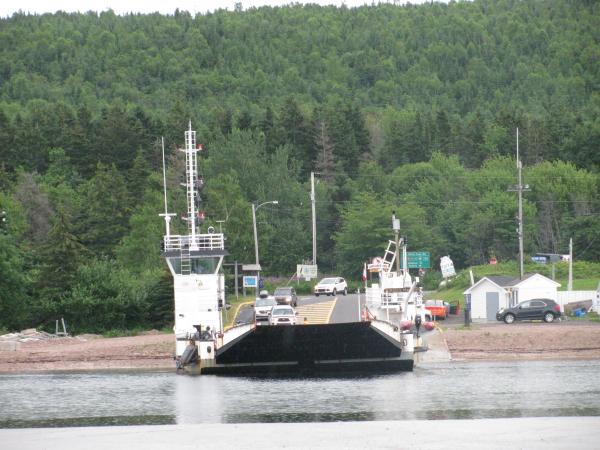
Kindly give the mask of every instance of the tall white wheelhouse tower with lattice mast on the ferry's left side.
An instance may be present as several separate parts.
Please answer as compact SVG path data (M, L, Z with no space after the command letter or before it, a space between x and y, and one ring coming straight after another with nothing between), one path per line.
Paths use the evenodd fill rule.
M188 234L170 234L170 220L166 208L166 234L163 238L163 256L173 275L175 288L175 326L177 339L176 356L180 357L189 340L210 327L216 339L223 331L221 308L225 304L225 280L221 272L223 258L227 254L223 234L214 233L209 227L206 233L200 232L204 213L198 210L201 203L200 191L204 184L198 172L197 154L202 150L196 145L196 132L185 132L186 199L187 215L183 219L188 225ZM200 353L214 357L214 348L200 348Z

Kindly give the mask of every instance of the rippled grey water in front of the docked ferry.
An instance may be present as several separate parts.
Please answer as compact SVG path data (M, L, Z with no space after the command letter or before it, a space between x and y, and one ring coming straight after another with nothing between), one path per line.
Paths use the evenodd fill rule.
M0 428L600 416L600 361L444 363L357 378L0 376Z

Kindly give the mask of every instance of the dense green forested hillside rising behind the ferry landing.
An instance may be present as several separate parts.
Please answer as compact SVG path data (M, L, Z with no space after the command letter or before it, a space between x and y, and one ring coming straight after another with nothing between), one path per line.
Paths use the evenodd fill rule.
M357 276L390 237L458 268L600 259L600 5L479 0L190 15L0 19L0 327L164 326L184 131L204 144L207 219L231 261ZM174 220L175 230L184 229Z

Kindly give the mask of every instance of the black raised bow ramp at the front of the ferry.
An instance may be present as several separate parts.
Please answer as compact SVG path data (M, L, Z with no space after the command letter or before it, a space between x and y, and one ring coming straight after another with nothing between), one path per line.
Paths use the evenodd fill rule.
M413 355L370 322L264 326L217 350L203 374L387 373L413 369Z

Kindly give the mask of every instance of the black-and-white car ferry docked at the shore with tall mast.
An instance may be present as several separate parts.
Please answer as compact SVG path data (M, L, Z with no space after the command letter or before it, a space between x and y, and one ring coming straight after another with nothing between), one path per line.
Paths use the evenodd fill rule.
M163 143L165 184L165 235L162 255L174 278L176 369L192 374L321 374L348 372L395 372L412 370L414 337L410 329L394 323L387 315L363 315L351 323L259 326L242 324L225 330L222 308L225 302L223 260L225 238L212 227L201 232L204 214L199 210L204 180L198 172L196 132L185 131L185 189L187 234L170 233ZM389 268L389 267L388 267ZM379 304L370 293L369 311L400 305L396 281L407 285L407 274L382 271ZM384 276L385 275L385 276ZM390 284L391 283L391 284ZM411 288L413 289L413 288ZM411 298L411 296L408 296ZM408 305L407 302L405 302ZM378 305L378 306L377 306ZM377 307L376 307L377 306ZM404 304L398 309L409 314Z

